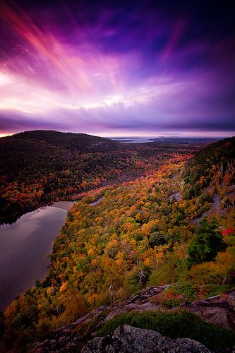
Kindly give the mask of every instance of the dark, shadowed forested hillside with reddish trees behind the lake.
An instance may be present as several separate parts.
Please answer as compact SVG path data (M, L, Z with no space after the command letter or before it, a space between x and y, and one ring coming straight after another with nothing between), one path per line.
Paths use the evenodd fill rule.
M76 200L105 181L135 179L177 155L188 158L203 141L145 145L83 133L26 131L0 138L0 224L59 200Z

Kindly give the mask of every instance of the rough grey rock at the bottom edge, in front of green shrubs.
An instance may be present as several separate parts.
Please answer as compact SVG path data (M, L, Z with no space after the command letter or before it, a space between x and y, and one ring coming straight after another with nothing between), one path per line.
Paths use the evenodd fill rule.
M199 342L188 338L171 340L152 330L124 325L116 328L113 335L90 340L82 353L210 353Z

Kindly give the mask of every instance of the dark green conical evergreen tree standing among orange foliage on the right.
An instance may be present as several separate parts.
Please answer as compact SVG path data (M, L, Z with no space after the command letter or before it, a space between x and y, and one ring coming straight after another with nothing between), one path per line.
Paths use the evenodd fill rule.
M191 268L196 263L212 261L219 251L226 249L222 234L217 229L215 221L209 222L205 217L200 222L200 227L195 231L195 237L188 247L188 266Z

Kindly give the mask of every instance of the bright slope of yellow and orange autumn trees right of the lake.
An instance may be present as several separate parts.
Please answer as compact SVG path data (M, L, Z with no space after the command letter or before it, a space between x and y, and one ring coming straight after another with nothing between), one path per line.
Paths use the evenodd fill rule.
M4 312L4 340L25 342L68 325L146 286L169 285L164 308L234 289L234 138L191 161L168 155L135 181L85 193L54 241L47 278ZM164 162L163 162L164 161ZM209 166L209 167L208 167ZM200 170L196 179L187 176ZM204 180L210 176L209 181ZM202 179L203 178L203 179ZM188 189L197 184L197 193ZM94 203L94 201L99 201ZM215 205L216 203L216 205ZM193 304L192 304L193 305Z

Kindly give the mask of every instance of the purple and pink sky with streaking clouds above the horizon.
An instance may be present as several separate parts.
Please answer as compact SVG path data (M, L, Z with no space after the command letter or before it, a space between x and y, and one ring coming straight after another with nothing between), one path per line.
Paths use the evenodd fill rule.
M226 0L0 0L0 136L234 136L234 18Z

